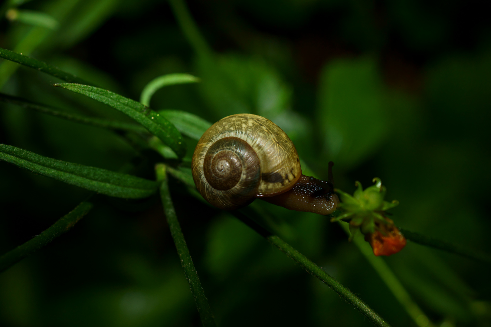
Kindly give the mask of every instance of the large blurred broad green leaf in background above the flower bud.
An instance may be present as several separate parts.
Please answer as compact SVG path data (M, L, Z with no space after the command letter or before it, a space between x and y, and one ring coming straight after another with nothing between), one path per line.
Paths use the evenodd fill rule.
M372 153L388 131L385 92L375 60L330 61L321 75L319 124L328 160L353 167Z

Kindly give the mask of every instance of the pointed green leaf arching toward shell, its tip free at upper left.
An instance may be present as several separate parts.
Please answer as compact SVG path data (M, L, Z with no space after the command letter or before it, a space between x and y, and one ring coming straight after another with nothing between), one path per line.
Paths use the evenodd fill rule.
M183 142L181 133L167 119L142 105L135 100L122 95L87 85L80 84L55 84L56 87L69 89L91 97L94 100L105 103L119 110L123 114L135 119L143 125L150 133L157 136L166 146L172 149L179 158L186 154L186 144Z

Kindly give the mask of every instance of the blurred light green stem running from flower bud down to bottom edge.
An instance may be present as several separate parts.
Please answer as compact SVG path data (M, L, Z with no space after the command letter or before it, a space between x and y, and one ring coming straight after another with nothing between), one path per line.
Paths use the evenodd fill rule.
M350 235L349 224L347 222L339 222L340 226L345 230L346 234ZM382 281L388 287L394 297L401 303L403 308L420 327L432 327L433 324L425 315L423 310L411 299L409 293L406 291L402 283L397 279L396 275L392 272L389 266L383 261L382 258L376 257L370 245L361 238L361 234L355 235L353 242L360 252L365 256L370 265L377 271Z

